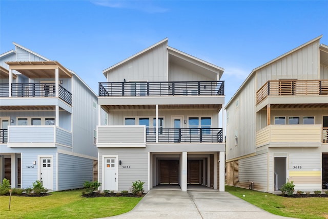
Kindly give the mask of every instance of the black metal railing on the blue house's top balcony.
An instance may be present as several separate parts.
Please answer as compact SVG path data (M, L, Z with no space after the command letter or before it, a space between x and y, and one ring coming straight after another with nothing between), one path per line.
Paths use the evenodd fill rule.
M72 94L59 85L59 98L72 105ZM9 84L0 84L0 96L9 96ZM56 96L55 83L13 83L11 86L12 97L49 97Z

